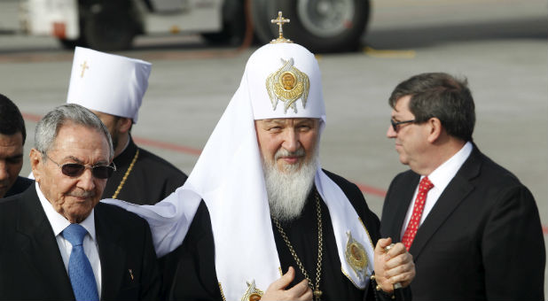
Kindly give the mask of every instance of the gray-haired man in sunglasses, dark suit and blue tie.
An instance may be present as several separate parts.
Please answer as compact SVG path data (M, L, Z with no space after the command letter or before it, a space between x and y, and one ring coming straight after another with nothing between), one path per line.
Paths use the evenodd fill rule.
M157 298L146 221L98 203L113 154L106 127L78 104L38 122L36 184L0 203L0 299Z

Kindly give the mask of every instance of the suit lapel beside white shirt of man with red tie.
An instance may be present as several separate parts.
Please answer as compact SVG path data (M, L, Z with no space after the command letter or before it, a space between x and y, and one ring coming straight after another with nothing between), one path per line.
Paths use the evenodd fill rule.
M470 157L466 159L458 173L443 190L427 219L420 225L417 235L411 244L410 252L415 259L419 258L428 240L434 235L438 228L447 220L458 205L474 190L471 179L480 174L481 152L474 145Z

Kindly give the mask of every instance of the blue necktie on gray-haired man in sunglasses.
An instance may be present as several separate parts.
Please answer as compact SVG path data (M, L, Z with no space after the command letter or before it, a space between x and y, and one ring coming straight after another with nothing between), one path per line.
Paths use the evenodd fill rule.
M63 230L63 237L73 245L68 259L68 277L77 301L98 300L97 283L90 260L83 252L83 237L88 231L78 224L70 224Z

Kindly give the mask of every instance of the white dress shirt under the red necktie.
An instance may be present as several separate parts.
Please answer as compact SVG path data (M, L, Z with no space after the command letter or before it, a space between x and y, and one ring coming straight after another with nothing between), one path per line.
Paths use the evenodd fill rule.
M432 211L432 208L434 207L435 203L438 201L438 198L440 198L440 196L442 195L443 190L445 190L447 185L449 185L449 182L453 180L453 178L455 177L455 174L457 174L458 170L460 169L460 166L462 166L465 163L466 159L470 156L472 149L473 149L472 143L467 142L462 147L462 149L460 149L460 151L458 151L456 154L453 155L453 157L443 162L443 164L441 166L438 166L438 168L434 169L434 171L431 174L428 174L428 179L434 184L434 188L428 191L427 201L425 202L424 211L422 212L422 216L420 217L419 227L420 225L422 225L422 222L427 218L428 213ZM422 180L424 177L425 177L424 175L421 175L420 180ZM415 189L415 193L413 194L413 198L411 199L409 208L407 209L407 215L405 215L405 222L403 223L402 230L400 232L400 237L403 237L405 228L407 228L407 225L409 224L409 220L411 220L411 215L413 213L413 206L415 205L415 198L417 198L418 193L419 193L419 185L417 185L417 188Z

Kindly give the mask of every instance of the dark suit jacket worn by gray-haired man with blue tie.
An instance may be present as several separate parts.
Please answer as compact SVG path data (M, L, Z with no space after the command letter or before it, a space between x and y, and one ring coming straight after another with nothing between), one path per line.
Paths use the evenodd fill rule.
M157 298L160 278L146 221L114 205L99 203L95 228L102 299ZM0 299L74 300L35 185L0 203L0 242Z

